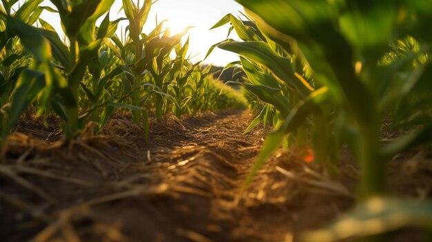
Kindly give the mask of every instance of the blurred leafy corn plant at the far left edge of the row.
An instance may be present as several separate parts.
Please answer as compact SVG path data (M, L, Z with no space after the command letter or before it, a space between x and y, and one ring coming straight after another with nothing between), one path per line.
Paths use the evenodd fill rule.
M2 29L0 50L2 52L1 105L9 105L8 112L1 112L2 139L5 139L21 114L35 99L39 101L38 113L43 112L49 102L50 90L57 82L59 73L50 63L51 49L48 40L38 28L32 26L44 8L42 1L26 1L12 13L17 1L2 1L0 26ZM14 53L18 43L23 46L21 54ZM27 59L31 54L32 59ZM26 58L26 61L21 61ZM10 92L13 93L12 96Z

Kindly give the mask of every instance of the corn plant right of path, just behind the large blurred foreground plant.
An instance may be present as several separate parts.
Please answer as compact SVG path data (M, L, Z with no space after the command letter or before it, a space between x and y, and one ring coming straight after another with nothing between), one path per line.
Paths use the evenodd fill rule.
M293 119L290 116L291 110L296 110L298 103L326 101L326 88L313 80L313 71L304 59L302 52L297 48L295 40L290 40L285 45L277 43L263 34L253 19L248 16L245 17L248 20L242 21L228 14L213 28L230 23L231 28L243 40L241 42L228 39L222 43L217 43L215 46L241 56L239 64L246 73L246 82L228 83L242 85L262 102L262 105L259 105L261 109L259 114L246 129L246 132L260 122L272 123L277 127L284 125L286 119ZM209 52L211 51L212 49ZM251 95L248 96L251 97ZM291 125L286 127L284 132L288 134L287 145L299 152L305 152L305 154L309 147L313 146L317 161L327 164L330 161L335 161L336 153L331 152L331 150L335 150L336 141L330 135L331 130L323 125L330 118L331 111L331 107L323 104L320 110L317 110L315 115L307 120L308 122L303 122L303 120L291 121ZM307 139L307 132L311 132L313 135L311 141ZM277 139L269 139L273 141L273 144L268 145L268 147L277 148L278 143L282 142L283 135L275 134L278 134ZM269 154L271 150L265 153ZM257 172L257 168L262 165L264 157L266 156L259 157L255 170L247 179L246 185ZM334 168L335 163L329 165Z

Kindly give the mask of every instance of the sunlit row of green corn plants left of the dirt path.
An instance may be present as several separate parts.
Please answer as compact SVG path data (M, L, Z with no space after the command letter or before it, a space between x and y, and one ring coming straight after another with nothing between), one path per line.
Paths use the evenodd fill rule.
M132 112L148 130L150 114L161 119L245 106L240 94L213 79L210 67L188 60L186 31L171 36L162 21L142 33L152 1L123 1L126 18L113 21L108 13L114 0L51 1L57 9L42 2L26 1L13 12L17 1L2 1L3 141L23 112L55 113L71 141L89 121L99 123L97 134L116 110ZM64 39L41 19L43 11L59 14ZM121 21L128 26L116 34Z

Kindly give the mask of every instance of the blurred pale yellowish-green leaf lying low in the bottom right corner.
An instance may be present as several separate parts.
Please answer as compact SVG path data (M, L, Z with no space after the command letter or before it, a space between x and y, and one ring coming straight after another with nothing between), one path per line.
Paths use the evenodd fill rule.
M357 205L327 228L306 232L302 241L340 241L405 227L432 229L432 203L375 197Z

